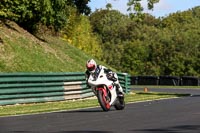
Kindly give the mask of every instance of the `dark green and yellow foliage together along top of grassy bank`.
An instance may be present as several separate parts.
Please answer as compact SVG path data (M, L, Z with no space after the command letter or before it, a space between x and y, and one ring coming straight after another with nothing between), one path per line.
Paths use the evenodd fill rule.
M90 0L3 0L0 5L1 16L17 22L20 26L37 35L46 26L62 36L79 49L101 58L98 38L92 33L87 17ZM52 28L53 27L53 28ZM42 31L43 30L43 31ZM39 37L39 35L37 35ZM40 37L39 37L40 38Z

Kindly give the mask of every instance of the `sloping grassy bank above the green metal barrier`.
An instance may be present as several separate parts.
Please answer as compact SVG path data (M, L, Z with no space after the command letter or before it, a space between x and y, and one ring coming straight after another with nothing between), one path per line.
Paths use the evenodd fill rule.
M38 39L16 23L0 21L0 72L81 72L90 56L58 37Z

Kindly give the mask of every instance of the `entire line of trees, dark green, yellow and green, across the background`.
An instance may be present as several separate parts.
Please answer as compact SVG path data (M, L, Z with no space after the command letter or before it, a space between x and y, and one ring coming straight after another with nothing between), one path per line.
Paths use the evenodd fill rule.
M90 0L2 0L0 19L36 35L44 26L71 45L131 75L200 75L200 7L155 18L129 0L129 15L91 12ZM159 0L148 0L149 9ZM133 12L134 11L134 12Z

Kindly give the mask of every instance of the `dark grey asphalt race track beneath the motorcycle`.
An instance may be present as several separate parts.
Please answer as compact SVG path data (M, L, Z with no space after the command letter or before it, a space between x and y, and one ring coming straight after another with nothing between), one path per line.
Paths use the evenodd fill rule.
M200 133L200 90L161 91L185 92L191 96L130 103L122 111L89 108L0 117L0 132Z

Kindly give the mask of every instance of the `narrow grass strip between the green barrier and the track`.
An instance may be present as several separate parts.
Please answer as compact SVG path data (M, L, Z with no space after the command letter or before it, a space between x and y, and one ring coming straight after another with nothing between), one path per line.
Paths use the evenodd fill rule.
M181 94L169 94L169 93L143 93L136 92L125 95L125 102L138 102L146 100L158 100L163 98L174 98L186 96ZM61 102L48 102L48 103L37 103L37 104L19 104L19 105L7 105L0 106L0 116L10 116L10 115L22 115L22 114L35 114L44 113L52 111L62 111L62 110L74 110L88 107L99 106L96 98L94 99L83 99L83 100L70 100Z

